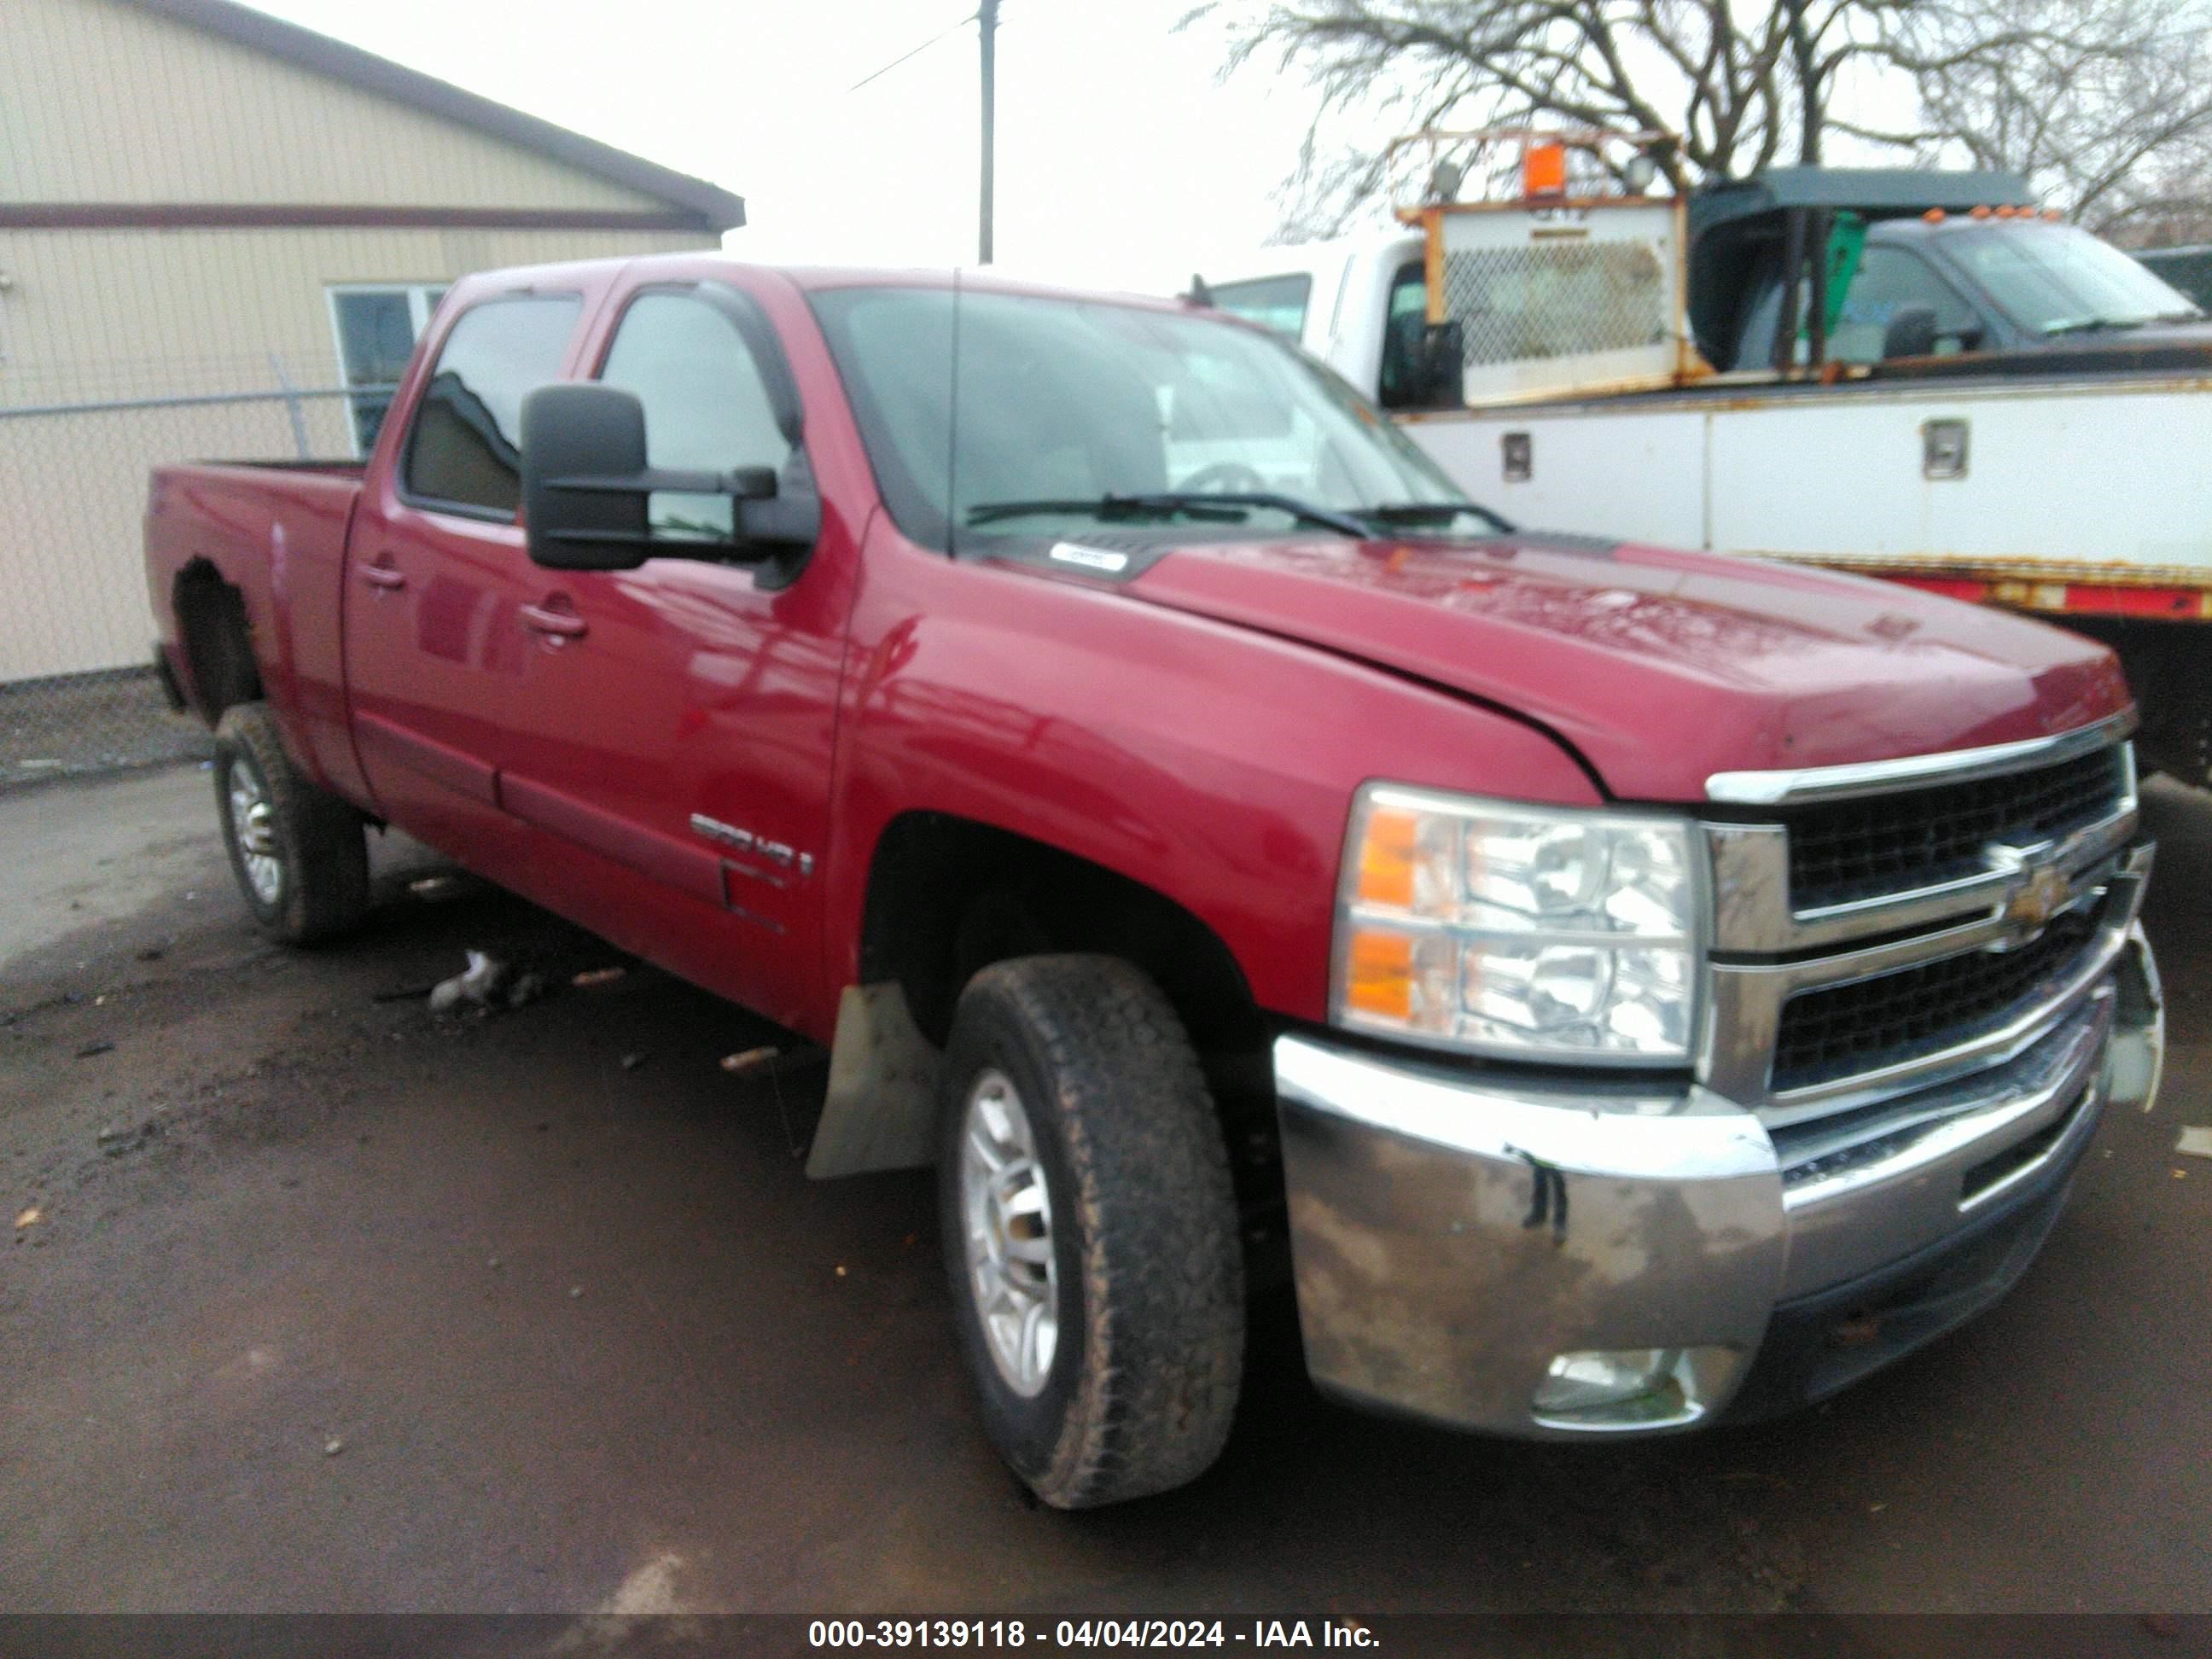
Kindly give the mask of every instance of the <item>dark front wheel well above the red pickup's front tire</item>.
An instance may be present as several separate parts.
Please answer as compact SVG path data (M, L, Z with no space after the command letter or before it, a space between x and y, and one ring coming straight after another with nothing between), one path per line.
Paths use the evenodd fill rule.
M909 812L876 843L860 978L896 980L942 1044L960 991L1009 956L1102 951L1166 991L1201 1055L1263 1048L1265 1026L1228 945L1172 898L1042 841Z

